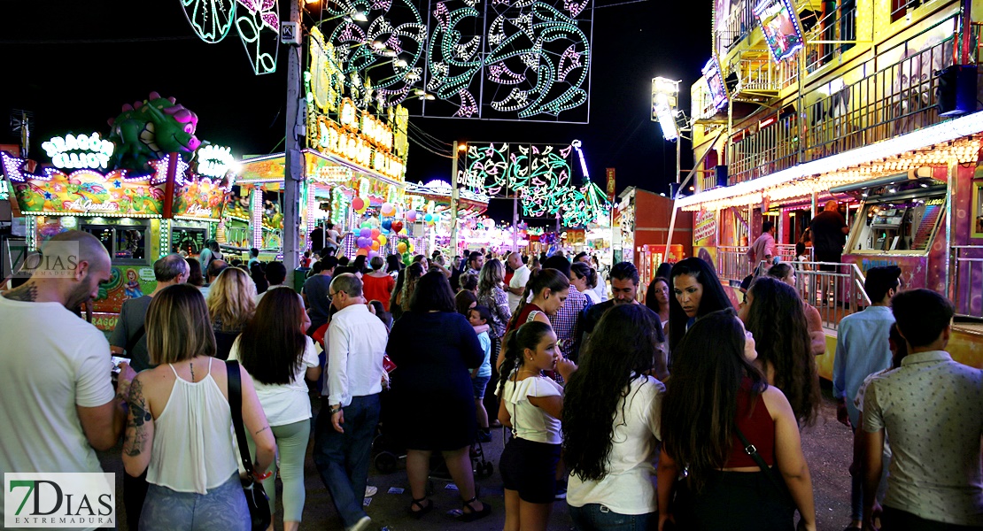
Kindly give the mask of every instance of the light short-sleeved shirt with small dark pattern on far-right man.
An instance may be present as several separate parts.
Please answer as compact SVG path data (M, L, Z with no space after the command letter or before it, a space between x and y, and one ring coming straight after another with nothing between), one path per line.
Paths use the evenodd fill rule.
M927 520L983 525L983 371L944 350L908 354L871 381L863 430L884 430L894 457L884 504Z

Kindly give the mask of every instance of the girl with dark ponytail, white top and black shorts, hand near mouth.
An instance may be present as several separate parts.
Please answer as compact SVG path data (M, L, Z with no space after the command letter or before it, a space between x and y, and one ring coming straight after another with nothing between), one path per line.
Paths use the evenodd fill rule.
M498 409L512 440L501 453L505 531L545 531L556 492L563 388L543 376L556 370L569 379L576 370L556 346L549 324L530 321L506 336L498 380Z

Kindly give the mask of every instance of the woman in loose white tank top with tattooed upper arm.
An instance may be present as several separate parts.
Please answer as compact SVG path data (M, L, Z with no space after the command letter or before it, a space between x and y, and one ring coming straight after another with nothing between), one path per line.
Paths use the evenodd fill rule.
M232 446L232 413L225 364L202 293L177 285L153 296L146 312L146 346L158 365L134 379L123 443L131 476L149 483L142 529L249 530L250 515ZM243 423L257 444L262 477L276 444L245 370Z

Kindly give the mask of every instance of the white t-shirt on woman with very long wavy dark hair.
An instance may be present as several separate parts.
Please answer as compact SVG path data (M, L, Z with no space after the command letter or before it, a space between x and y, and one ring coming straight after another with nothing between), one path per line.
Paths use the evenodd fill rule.
M628 396L618 400L614 413L607 475L601 481L581 481L571 473L566 503L581 507L603 504L618 514L646 514L659 509L656 469L659 414L665 385L651 376L629 384Z

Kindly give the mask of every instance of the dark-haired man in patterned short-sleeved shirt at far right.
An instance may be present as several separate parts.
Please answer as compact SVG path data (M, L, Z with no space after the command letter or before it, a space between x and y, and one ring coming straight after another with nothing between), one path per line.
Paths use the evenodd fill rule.
M953 304L937 292L892 299L907 355L871 380L864 395L861 461L864 529L881 512L885 439L891 440L883 529L983 529L983 371L953 361ZM870 495L868 496L868 493Z

